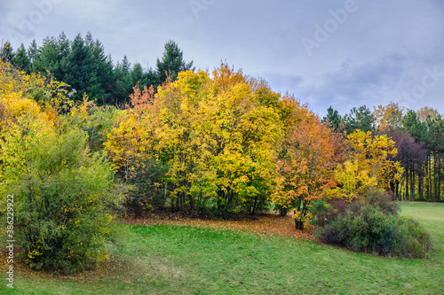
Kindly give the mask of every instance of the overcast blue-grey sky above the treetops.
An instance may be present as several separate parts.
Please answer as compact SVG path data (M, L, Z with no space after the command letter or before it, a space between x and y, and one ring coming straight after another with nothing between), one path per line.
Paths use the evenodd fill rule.
M0 0L14 49L62 31L146 68L171 39L197 68L224 61L321 116L390 102L444 113L443 0Z

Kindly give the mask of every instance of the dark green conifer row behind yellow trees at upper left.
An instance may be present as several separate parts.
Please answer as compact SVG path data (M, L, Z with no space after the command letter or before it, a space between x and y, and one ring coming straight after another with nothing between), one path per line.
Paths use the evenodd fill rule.
M180 71L194 69L193 61L186 62L183 51L172 40L164 44L163 57L156 59L155 68L131 65L126 56L114 64L90 32L84 38L78 34L74 40L62 32L58 37L46 37L40 46L34 40L28 49L21 43L13 50L11 43L5 42L0 58L27 74L40 73L67 83L74 100L82 100L86 94L99 105L121 107L128 103L134 85L139 83L141 89L153 85L156 89L167 75L174 81Z

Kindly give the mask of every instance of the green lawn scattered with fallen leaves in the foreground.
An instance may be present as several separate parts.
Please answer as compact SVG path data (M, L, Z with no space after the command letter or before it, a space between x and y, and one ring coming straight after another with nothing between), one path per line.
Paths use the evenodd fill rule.
M402 203L432 233L424 260L386 259L297 237L186 225L122 225L111 260L75 276L16 274L1 294L444 294L444 204Z

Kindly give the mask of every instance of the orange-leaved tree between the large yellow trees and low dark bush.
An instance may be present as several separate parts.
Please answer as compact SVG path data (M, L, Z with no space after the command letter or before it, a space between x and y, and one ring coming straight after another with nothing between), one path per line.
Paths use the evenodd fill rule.
M316 115L295 101L292 122L277 159L279 176L273 199L281 208L293 208L296 229L304 229L308 208L322 198L332 182L336 147L329 128Z

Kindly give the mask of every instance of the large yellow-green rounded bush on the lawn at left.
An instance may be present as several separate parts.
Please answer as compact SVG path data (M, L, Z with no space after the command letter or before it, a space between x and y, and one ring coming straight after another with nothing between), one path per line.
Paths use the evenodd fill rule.
M22 120L2 144L2 189L14 195L15 240L31 268L73 272L107 257L113 171L79 129Z

